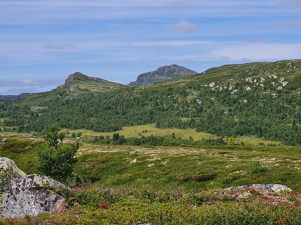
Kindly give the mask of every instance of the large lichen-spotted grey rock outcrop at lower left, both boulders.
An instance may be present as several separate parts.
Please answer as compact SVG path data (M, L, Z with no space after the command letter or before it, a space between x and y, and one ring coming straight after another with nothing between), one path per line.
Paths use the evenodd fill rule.
M4 165L0 167L2 174L9 175L5 175L1 182L0 217L14 218L36 216L42 212L52 213L57 211L59 205L65 200L61 195L54 194L45 187L45 185L65 187L60 182L37 174L26 176L14 161L8 158L0 157L0 165Z

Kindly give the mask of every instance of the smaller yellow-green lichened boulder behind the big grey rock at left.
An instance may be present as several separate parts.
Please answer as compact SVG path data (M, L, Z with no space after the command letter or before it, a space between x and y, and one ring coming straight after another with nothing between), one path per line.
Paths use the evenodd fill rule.
M3 174L14 178L25 177L26 173L20 170L14 161L9 158L0 157L0 179Z

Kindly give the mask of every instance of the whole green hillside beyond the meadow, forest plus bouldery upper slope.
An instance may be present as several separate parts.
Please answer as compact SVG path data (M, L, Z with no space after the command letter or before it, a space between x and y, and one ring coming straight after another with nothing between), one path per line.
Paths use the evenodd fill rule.
M0 119L7 130L20 132L41 132L54 123L101 133L155 124L160 129L195 129L218 137L251 136L299 146L300 68L301 60L224 65L133 87L73 80L0 105ZM20 107L25 105L30 107Z

